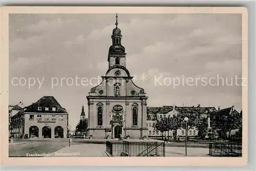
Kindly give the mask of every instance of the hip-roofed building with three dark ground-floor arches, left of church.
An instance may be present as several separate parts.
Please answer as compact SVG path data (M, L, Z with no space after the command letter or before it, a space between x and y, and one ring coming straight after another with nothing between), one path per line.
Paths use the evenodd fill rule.
M53 96L44 96L11 117L12 137L67 138L68 113Z

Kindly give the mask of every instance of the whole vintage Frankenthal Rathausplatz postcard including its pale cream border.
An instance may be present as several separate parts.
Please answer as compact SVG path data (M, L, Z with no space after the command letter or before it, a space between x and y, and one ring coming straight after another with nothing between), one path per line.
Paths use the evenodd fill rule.
M1 22L2 165L247 165L246 8L2 7Z

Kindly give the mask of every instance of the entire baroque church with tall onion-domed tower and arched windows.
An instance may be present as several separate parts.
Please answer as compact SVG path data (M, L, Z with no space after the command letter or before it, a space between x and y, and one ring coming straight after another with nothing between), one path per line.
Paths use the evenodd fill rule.
M121 30L113 30L109 48L109 69L102 82L91 88L88 100L87 135L94 138L118 138L147 136L146 100L143 88L136 86L126 68L125 48L121 45Z

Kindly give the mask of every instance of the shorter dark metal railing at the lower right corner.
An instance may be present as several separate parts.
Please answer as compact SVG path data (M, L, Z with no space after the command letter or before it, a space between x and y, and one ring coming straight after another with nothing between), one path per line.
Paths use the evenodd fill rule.
M211 142L209 143L209 155L222 157L242 156L242 143Z

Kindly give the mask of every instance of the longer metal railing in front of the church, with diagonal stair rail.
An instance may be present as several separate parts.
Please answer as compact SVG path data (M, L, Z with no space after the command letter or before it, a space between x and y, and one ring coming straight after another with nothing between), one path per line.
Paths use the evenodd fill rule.
M165 143L155 141L106 141L111 156L165 156Z

